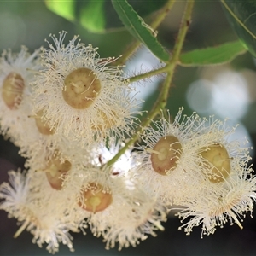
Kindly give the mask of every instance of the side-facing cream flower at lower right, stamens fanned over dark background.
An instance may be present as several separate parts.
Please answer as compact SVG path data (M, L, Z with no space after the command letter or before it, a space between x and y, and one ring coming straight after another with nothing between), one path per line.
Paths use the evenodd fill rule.
M229 220L230 224L235 222L242 229L241 221L245 213L253 212L256 200L256 178L251 174L253 170L247 168L247 161L231 160L231 166L232 172L224 182L208 181L198 188L198 194L186 201L185 208L177 213L183 220L189 218L182 225L187 235L194 226L201 224L202 235L213 234L217 226L223 227Z

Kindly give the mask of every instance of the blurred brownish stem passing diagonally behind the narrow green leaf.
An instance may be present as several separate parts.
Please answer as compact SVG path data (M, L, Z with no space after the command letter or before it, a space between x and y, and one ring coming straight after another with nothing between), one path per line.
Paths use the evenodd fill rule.
M173 3L175 3L175 0L167 1L166 4L156 12L155 19L149 24L149 26L151 26L153 29L156 29L158 26L160 26L161 22L166 18L166 15L172 9ZM124 65L125 61L127 61L129 57L137 50L140 44L141 42L139 41L131 43L128 49L125 50L124 54L114 62L114 65Z

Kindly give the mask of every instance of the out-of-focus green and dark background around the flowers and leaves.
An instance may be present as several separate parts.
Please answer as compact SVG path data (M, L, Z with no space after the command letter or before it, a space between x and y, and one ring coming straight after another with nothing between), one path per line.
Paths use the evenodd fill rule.
M86 1L81 1L86 2ZM130 1L132 3L132 1ZM137 1L147 5L148 1ZM151 1L152 2L152 1ZM157 0L155 0L157 2ZM134 1L136 3L136 1ZM154 1L153 1L154 3ZM177 1L169 15L158 28L160 42L172 52L178 27L183 14L185 1ZM119 21L109 9L108 24L120 26ZM84 44L99 48L102 57L119 56L131 44L132 38L124 29L117 32L96 34L88 32L79 22L72 23L50 12L43 1L0 1L0 49L20 51L26 45L31 51L47 46L44 38L49 33L68 32L67 39L79 34ZM183 51L215 46L236 40L236 34L228 24L221 4L218 1L196 1L188 36ZM147 71L159 67L160 63L147 49L140 47L125 67L126 73ZM238 56L230 64L216 67L178 67L172 81L168 108L174 116L183 106L184 113L196 111L201 116L214 114L219 119L229 118L230 125L240 124L237 139L249 137L252 145L256 143L256 73L255 59L249 53ZM159 91L157 85L163 77L137 84L138 97L146 99L143 109L152 107ZM9 141L1 138L0 182L8 180L7 171L22 167L24 160L18 155ZM253 161L255 160L254 153ZM256 212L255 212L256 213ZM255 214L254 214L255 215ZM67 247L60 247L57 255L256 255L256 221L249 216L244 220L244 229L226 224L213 236L201 239L201 228L195 228L192 235L186 236L177 218L168 220L166 231L158 237L148 237L136 248L130 247L118 252L106 251L101 238L73 234L75 253ZM8 219L0 212L0 255L49 255L47 251L32 244L32 236L24 231L18 238L13 235L17 230L16 220Z

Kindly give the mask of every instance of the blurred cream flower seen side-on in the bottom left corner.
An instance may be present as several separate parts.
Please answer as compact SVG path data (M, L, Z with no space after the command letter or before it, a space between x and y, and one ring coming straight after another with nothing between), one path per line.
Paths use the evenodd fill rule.
M49 253L57 252L60 242L73 251L73 238L68 231L79 232L81 223L73 221L63 212L62 207L58 207L58 198L55 193L49 193L50 189L45 187L44 179L40 178L40 187L44 188L41 190L34 187L31 178L21 172L12 171L9 176L10 184L3 183L0 186L0 197L4 199L0 208L9 212L9 218L17 218L21 223L15 237L26 229L34 236L32 242L39 247L44 243L48 244L46 249ZM46 195L42 194L43 190ZM63 206L63 202L61 205Z

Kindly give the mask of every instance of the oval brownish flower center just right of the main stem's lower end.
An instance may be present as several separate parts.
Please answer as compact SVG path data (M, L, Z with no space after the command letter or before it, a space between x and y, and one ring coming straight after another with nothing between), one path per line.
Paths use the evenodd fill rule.
M154 145L151 153L151 163L155 172L167 175L177 167L177 160L182 154L182 145L177 137L169 135L161 137Z

